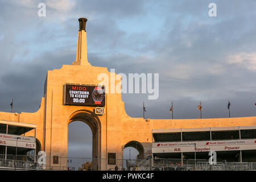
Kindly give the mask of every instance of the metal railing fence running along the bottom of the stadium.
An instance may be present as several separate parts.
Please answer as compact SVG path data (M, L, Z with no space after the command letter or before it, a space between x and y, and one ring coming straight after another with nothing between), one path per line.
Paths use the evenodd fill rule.
M256 162L217 162L210 165L200 159L92 159L46 157L46 164L38 163L40 156L2 155L0 169L65 170L65 171L256 171Z

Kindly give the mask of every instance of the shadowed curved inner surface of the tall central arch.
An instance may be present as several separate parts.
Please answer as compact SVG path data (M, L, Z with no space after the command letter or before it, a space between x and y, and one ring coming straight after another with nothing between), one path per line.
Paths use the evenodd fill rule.
M86 123L93 134L92 156L94 159L101 158L101 122L100 119L89 110L77 110L71 114L67 125L71 122L81 121Z

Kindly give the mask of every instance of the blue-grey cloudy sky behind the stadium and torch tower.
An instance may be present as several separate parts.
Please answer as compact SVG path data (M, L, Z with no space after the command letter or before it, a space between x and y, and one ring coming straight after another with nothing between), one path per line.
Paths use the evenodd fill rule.
M46 4L46 17L38 4ZM210 17L209 3L217 16ZM76 58L78 18L88 19L88 60L116 73L159 73L159 98L123 94L127 114L166 119L171 101L174 118L256 115L256 1L0 1L0 110L39 109L47 70L72 64ZM73 123L79 132L83 123ZM69 135L69 151L86 139ZM71 132L69 132L71 133ZM72 132L73 133L73 132ZM81 133L84 133L81 131ZM88 139L89 138L89 139ZM69 152L70 153L70 152ZM127 152L126 152L127 153Z

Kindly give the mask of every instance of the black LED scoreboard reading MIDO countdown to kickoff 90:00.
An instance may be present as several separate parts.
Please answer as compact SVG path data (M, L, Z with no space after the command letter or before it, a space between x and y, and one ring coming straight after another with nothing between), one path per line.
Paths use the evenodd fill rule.
M64 105L105 106L104 86L64 85Z

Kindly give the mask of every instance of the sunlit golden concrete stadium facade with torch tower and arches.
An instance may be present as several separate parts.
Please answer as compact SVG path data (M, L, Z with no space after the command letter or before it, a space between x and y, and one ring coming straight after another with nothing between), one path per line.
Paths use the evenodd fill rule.
M239 137L242 137L244 127L251 127L251 130L255 130L256 117L143 119L127 115L121 93L102 92L104 87L110 88L110 82L102 84L102 80L98 80L98 75L104 73L110 78L108 69L92 66L88 62L86 20L85 18L79 19L80 30L77 40L77 54L73 64L63 65L60 69L47 72L40 109L35 113L0 112L1 121L35 125L36 136L34 131L19 134L23 134L24 137L34 136L37 141L36 151L45 151L47 156L55 156L55 159L67 157L68 125L75 121L85 122L92 129L93 158L101 159L122 159L123 149L126 147L137 148L142 159L145 157L144 154L151 152L155 156L173 156L175 158L181 158L181 152L183 152L185 157L193 158L192 153L189 154L189 152L193 152L193 146L180 147L180 151L174 152L174 147L164 147L164 145L168 145L170 142L176 142L177 145L187 142L196 143L197 148L202 148L205 147L205 141L213 142L214 140L218 142L222 140L216 137L215 130L219 131L225 127L224 131L234 131L232 139L234 142L254 140L255 137L253 139ZM115 77L121 78L116 74ZM116 84L119 84L119 82L116 82ZM170 130L167 132L166 129ZM238 131L241 131L241 135L238 135ZM1 131L1 133L5 132ZM167 137L160 133L167 135ZM189 136L191 139L189 139ZM200 139L204 142L201 143ZM230 138L223 139L226 142L231 140ZM159 143L160 150L158 148ZM2 144L0 145L2 146ZM251 146L251 150L255 149L255 143L246 142L246 150L242 149L242 145L239 146L242 150L242 156L246 155L246 153L243 154L243 151L248 150L247 145ZM214 144L211 147L213 146ZM214 147L218 148L219 146ZM232 150L240 155L237 161L241 158L241 150ZM3 151L5 152L5 150ZM166 155L167 153L168 155ZM198 152L198 158L203 158L204 155L204 151ZM250 152L248 155L250 156ZM55 166L53 160L49 163L51 164L48 165ZM97 167L101 169L101 163L98 163Z

